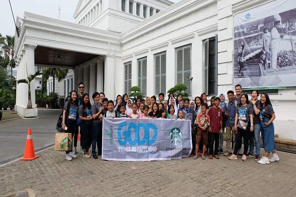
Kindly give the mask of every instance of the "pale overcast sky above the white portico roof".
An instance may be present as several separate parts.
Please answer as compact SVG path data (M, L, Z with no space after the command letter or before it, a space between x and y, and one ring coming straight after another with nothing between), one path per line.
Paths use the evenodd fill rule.
M58 9L61 6L60 19L74 22L73 14L78 0L10 0L10 3L15 20L17 16L23 16L25 11L58 19ZM15 34L15 25L8 0L1 0L0 33L2 36Z

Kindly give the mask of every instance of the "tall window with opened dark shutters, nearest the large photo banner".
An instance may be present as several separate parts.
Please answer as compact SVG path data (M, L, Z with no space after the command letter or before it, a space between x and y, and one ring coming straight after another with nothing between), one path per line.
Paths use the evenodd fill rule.
M218 45L217 35L204 40L204 91L207 95L217 95L218 93Z

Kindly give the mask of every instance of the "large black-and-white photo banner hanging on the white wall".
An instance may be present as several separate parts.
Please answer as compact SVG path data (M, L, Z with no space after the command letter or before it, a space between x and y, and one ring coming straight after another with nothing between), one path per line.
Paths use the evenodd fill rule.
M296 86L296 0L276 0L234 16L233 83Z

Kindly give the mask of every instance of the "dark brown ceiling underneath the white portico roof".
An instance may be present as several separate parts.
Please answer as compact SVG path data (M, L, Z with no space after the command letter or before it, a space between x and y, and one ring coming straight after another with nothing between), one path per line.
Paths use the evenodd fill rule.
M98 55L66 51L61 49L37 46L35 49L35 64L48 66L78 66Z

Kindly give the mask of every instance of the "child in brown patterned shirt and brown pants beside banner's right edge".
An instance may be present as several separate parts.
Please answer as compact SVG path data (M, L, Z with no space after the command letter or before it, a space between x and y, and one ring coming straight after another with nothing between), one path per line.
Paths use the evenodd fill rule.
M199 144L202 139L202 155L201 159L205 160L205 152L206 152L206 145L208 144L208 127L210 125L210 117L206 115L207 111L207 104L203 103L201 105L201 113L197 114L197 118L194 124L197 126L197 134L196 134L196 144L195 150L199 149ZM195 156L193 157L196 160L198 157L198 151L195 151Z

